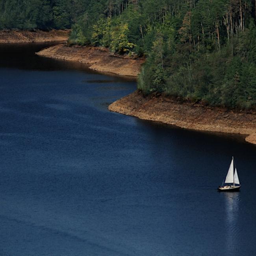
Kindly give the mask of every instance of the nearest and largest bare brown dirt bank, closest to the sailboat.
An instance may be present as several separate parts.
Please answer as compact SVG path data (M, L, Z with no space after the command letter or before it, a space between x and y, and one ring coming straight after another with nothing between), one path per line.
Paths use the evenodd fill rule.
M165 96L143 97L138 91L113 102L109 110L187 129L245 134L246 141L256 144L255 111L245 113L178 103Z

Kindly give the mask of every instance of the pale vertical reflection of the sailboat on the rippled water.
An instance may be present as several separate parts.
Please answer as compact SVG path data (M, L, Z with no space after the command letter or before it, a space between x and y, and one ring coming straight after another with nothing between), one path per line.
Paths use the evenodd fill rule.
M240 194L239 192L224 193L226 210L226 249L228 252L236 252L237 238L239 234L238 214Z

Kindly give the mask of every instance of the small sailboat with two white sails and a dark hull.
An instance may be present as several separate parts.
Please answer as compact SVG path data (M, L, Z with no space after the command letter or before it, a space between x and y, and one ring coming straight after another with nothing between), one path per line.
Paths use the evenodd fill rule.
M234 161L234 157L232 156L232 161L230 163L230 167L228 169L228 173L226 178L224 179L222 186L219 186L219 191L239 191L241 184L239 182L237 169Z

